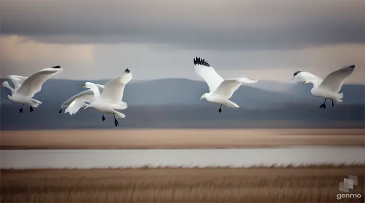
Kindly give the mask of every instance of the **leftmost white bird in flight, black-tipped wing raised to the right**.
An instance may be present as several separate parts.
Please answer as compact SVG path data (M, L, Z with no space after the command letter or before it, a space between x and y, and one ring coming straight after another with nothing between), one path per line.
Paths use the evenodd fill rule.
M11 96L8 95L6 98L18 103L23 103L22 108L19 109L19 113L23 112L24 104L29 105L30 112L32 112L32 107L35 108L42 104L41 101L32 98L34 94L41 91L43 83L46 82L48 78L60 73L61 71L61 66L57 65L54 67L47 67L46 69L42 69L39 72L35 72L29 78L25 79L21 84L19 82L14 83L14 93ZM17 85L20 85L19 88L17 88Z

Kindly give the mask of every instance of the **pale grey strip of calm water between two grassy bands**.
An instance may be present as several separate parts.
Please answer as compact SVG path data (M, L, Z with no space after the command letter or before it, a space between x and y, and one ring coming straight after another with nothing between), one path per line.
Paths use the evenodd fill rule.
M144 164L209 166L365 161L365 148L318 147L270 149L153 150L0 150L2 168L138 167Z

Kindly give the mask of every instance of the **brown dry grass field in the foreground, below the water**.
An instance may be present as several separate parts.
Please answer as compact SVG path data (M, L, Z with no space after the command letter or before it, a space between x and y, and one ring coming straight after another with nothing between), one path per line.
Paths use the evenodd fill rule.
M1 192L3 202L363 202L364 166L2 170ZM337 199L348 175L361 198Z

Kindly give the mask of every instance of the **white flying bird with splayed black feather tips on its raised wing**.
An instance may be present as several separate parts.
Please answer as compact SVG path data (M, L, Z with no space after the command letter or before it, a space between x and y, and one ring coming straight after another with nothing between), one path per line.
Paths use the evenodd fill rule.
M218 75L213 67L205 61L203 58L194 58L195 73L202 77L208 84L209 93L204 93L200 99L205 98L213 103L220 104L221 107L218 112L222 112L222 105L230 108L239 108L239 106L229 100L233 93L241 86L242 83L255 83L258 80L253 80L250 78L233 78L233 79L223 79Z

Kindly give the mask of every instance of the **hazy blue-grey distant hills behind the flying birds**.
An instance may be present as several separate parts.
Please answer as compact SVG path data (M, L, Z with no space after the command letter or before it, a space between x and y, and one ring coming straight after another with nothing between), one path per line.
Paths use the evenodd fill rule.
M4 80L1 80L3 82ZM10 90L1 88L1 130L115 128L112 115L101 121L101 113L88 109L70 116L58 114L61 104L72 95L83 91L86 81L50 79L34 98L43 104L29 112L21 104L5 100ZM104 84L103 81L92 81ZM271 82L274 86L275 82ZM287 84L280 84L284 87ZM284 87L286 88L286 87ZM187 79L160 79L133 82L126 86L123 100L128 108L119 128L247 128L247 127L363 127L364 86L344 85L344 102L334 108L319 109L321 98L310 94L311 85L289 85L282 91L242 85L231 100L240 109L209 103L200 96L208 92L206 83ZM336 123L333 121L337 121ZM344 121L344 122L341 122ZM339 123L338 123L339 122Z

